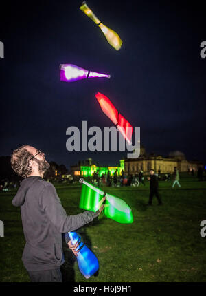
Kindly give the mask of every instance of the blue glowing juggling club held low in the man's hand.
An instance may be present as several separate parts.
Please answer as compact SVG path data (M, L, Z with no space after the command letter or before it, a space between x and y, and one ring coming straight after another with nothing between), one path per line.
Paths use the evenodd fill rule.
M79 270L86 279L89 279L89 277L91 277L99 269L98 258L81 241L81 237L78 233L70 231L68 234L72 244L76 244L76 242L78 242L79 246L76 248L76 251L80 250L77 255Z

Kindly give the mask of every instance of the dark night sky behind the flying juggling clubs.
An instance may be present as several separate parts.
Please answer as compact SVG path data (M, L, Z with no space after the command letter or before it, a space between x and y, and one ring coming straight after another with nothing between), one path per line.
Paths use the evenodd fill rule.
M81 2L5 1L1 4L0 155L30 144L68 168L88 157L116 165L123 152L69 152L66 129L112 126L96 92L111 99L141 129L146 151L179 150L206 162L206 41L203 1L102 1L88 6L123 41L116 51L79 9ZM60 81L60 63L111 79Z

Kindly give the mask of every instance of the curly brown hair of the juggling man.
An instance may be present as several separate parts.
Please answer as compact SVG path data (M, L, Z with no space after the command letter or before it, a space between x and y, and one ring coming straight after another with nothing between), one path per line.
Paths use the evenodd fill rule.
M32 173L32 167L30 166L32 154L27 151L26 146L27 145L23 145L15 149L11 156L12 169L23 178L27 178L27 176Z

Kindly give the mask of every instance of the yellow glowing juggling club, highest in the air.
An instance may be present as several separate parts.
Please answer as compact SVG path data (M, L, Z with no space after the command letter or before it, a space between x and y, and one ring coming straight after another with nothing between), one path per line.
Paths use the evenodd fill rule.
M115 31L111 30L110 28L106 27L106 25L103 25L103 23L101 23L98 17L96 17L92 10L87 6L86 1L82 3L82 6L80 6L80 10L87 14L87 16L90 17L90 19L92 19L96 25L98 25L98 27L104 33L104 36L106 37L108 43L112 47L114 47L115 50L119 50L121 48L122 40L120 39L119 35Z

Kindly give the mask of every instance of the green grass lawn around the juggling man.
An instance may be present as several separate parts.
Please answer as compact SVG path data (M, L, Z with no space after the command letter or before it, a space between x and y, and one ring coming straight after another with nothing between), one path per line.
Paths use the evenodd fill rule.
M72 282L205 282L206 237L200 222L206 220L206 182L181 178L181 189L159 182L163 206L146 207L149 184L137 188L111 188L106 192L125 200L133 210L133 224L119 224L101 214L78 231L97 255L98 275L84 279L76 260L64 243L65 281ZM55 184L68 215L78 209L80 185ZM12 206L16 191L0 193L0 282L30 282L21 262L25 244L20 209Z

